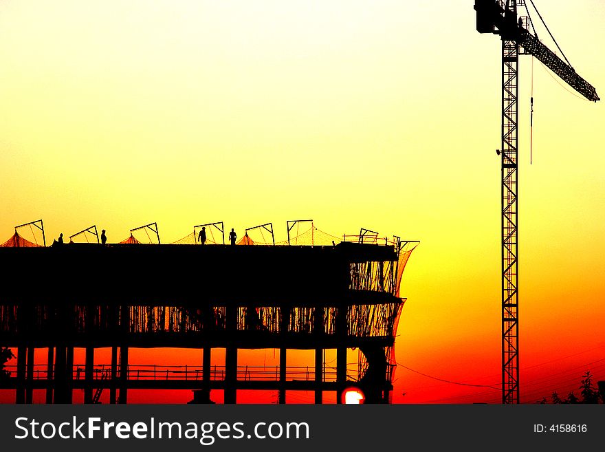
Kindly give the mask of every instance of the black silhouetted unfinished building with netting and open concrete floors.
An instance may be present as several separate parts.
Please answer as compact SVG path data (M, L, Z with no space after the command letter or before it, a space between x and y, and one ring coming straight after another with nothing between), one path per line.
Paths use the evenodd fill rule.
M85 403L104 390L110 403L126 403L129 389L190 389L193 403L213 403L214 389L225 403L236 403L241 389L277 391L280 403L286 391L305 390L322 403L325 391L340 402L354 385L366 403L390 402L405 301L399 286L417 242L362 229L333 244L312 223L288 235L289 246L258 246L252 228L242 246L210 236L212 246L188 244L195 232L175 244L141 244L131 232L118 244L47 247L16 230L0 246L10 281L0 286L0 345L16 350L17 365L0 388L14 389L17 403L31 403L34 389L47 403L72 403L74 390ZM40 271L32 280L24 268ZM74 347L85 349L83 365L74 363ZM95 363L100 347L111 347L111 364ZM129 363L133 347L149 356L159 347L203 352L197 367L164 369ZM216 349L224 349L224 365L213 365ZM278 349L279 365L248 366L238 359L242 349ZM314 366L287 366L295 349L312 351ZM326 349L336 349L333 367ZM355 369L347 368L351 349L360 356ZM34 361L40 353L47 364Z

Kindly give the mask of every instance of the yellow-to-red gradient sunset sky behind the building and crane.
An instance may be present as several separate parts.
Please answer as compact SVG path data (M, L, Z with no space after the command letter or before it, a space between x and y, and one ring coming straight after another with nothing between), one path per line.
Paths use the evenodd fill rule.
M283 240L300 218L419 240L393 401L498 402L500 39L473 3L1 1L1 241L37 219L47 243L215 221ZM534 3L604 96L605 3ZM524 402L605 380L603 102L520 58Z

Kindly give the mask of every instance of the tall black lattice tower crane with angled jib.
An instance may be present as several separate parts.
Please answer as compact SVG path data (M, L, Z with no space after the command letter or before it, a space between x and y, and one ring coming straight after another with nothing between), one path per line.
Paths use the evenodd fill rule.
M533 5L533 0L529 1ZM542 44L535 30L533 34L529 31L529 10L527 10L528 17L518 17L517 14L517 8L522 6L527 10L525 0L475 0L474 3L477 31L499 34L502 41L502 141L500 149L496 152L502 161L502 402L504 404L519 403L517 318L519 55L535 56L586 99L593 102L600 100L596 89L575 72L569 61L563 61Z

